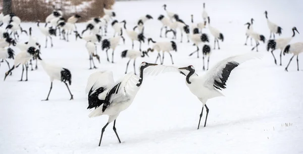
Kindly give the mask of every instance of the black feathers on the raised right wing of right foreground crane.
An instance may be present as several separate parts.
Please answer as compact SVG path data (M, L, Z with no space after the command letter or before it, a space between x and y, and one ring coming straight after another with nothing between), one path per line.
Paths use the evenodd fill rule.
M225 68L223 68L221 76L222 78L220 78L220 80L218 80L218 78L214 78L214 87L216 89L221 90L220 88L225 89L226 87L226 81L228 80L229 74L230 72L236 67L238 66L239 63L235 62L235 61L230 61L226 64Z

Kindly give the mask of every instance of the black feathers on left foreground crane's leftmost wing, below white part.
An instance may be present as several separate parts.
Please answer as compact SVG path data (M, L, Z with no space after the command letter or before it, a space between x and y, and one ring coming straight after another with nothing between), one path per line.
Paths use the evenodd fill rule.
M92 87L88 92L88 107L87 109L97 108L104 103L104 100L99 100L99 94L106 91L104 87L100 87L94 91L92 91ZM93 93L92 93L93 92Z

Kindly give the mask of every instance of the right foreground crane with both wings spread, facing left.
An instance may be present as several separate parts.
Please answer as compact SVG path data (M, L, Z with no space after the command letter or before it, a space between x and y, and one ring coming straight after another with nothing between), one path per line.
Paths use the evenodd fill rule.
M240 63L250 60L260 58L260 54L248 53L237 56L231 56L225 58L215 64L213 68L208 70L204 75L198 76L195 73L195 69L192 65L187 67L177 68L176 66L151 66L145 69L145 73L149 74L159 74L166 71L176 71L182 73L186 76L186 86L189 88L190 92L195 95L201 103L203 103L202 112L200 114L199 124L202 117L204 106L207 109L207 115L204 126L206 126L206 121L208 117L209 109L206 106L206 102L209 99L224 96L218 90L225 89L226 81L228 80L229 74L233 68L238 66ZM187 70L187 71L184 71ZM198 128L199 128L198 124Z

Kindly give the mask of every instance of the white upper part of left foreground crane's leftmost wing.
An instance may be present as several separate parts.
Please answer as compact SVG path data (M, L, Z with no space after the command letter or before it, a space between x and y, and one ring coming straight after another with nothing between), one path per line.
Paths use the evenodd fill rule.
M90 90L94 91L100 87L109 89L114 84L113 72L109 70L96 71L89 75L85 88L85 93L89 93Z

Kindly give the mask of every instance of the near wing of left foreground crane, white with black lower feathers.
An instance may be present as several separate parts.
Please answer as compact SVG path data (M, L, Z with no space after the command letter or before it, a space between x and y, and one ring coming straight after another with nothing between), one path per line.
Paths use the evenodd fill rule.
M139 87L136 86L139 79L139 76L133 72L129 72L122 79L118 80L107 93L102 111L104 112L112 102L125 102L134 97L139 90Z

